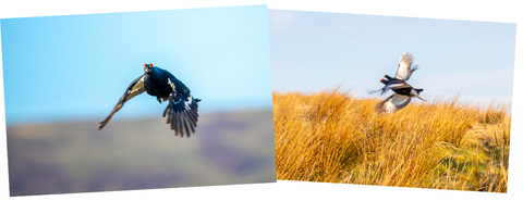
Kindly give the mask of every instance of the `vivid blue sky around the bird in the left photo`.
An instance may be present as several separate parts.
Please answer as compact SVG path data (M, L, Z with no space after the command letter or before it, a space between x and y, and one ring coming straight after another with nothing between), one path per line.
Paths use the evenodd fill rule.
M144 63L170 71L200 113L270 110L266 5L1 20L11 123L102 121ZM143 93L114 120L161 116Z

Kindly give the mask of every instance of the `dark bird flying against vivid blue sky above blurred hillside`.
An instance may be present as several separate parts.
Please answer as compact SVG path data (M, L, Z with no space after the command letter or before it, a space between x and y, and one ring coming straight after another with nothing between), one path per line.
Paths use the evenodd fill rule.
M198 102L202 99L193 98L191 90L180 79L153 64L144 64L144 74L129 85L111 113L100 122L98 129L104 128L125 102L144 91L156 97L159 103L169 101L163 111L163 117L177 136L180 134L183 137L185 133L191 137L191 134L195 133L194 128L198 122Z

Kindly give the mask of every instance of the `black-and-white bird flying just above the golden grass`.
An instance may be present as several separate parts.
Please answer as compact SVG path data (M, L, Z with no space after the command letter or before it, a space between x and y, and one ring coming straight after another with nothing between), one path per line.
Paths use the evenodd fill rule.
M400 64L398 65L396 76L390 77L389 75L385 75L385 79L382 78L380 80L385 87L378 90L369 91L369 93L381 91L380 95L384 95L389 89L394 91L392 96L378 103L376 106L378 112L386 112L389 114L396 113L405 108L411 102L412 97L423 100L422 97L419 97L419 93L423 91L423 89L414 88L406 83L412 73L418 68L417 65L411 67L414 58L410 53L403 53L400 56Z

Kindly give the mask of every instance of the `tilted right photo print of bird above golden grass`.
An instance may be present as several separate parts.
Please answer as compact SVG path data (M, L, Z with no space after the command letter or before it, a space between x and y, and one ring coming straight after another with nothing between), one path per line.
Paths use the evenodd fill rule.
M277 178L507 192L515 24L269 10Z

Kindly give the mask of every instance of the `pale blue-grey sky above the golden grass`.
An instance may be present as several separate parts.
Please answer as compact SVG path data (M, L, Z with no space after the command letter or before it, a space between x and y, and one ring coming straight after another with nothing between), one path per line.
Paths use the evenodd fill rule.
M400 55L419 65L423 98L460 93L473 103L512 100L515 24L269 10L272 88L357 97L393 76ZM389 92L388 95L390 95ZM382 97L385 98L385 96Z

